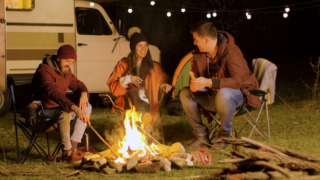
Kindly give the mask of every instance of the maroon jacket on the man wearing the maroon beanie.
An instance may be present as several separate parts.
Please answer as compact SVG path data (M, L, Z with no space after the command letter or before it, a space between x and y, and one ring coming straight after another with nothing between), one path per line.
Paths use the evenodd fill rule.
M68 74L59 70L55 55L44 58L31 81L33 99L41 100L44 108L61 106L71 113L71 106L76 104L65 97L68 88L78 97L82 92L88 92L84 83L71 70Z

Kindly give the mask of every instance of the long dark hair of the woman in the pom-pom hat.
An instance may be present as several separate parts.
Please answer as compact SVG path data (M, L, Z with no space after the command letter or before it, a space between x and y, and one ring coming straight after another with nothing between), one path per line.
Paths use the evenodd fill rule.
M153 69L153 60L151 58L150 51L148 50L146 57L142 59L139 70L138 70L138 56L135 53L135 47L129 53L127 57L127 63L129 66L129 69L127 70L127 72L130 72L131 75L139 76L143 80L142 84L140 85L140 88L145 87L146 77L151 74L151 70Z

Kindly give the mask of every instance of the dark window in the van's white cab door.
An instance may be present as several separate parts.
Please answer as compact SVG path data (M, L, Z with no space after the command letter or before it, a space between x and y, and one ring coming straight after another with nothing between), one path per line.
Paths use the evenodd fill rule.
M112 31L97 9L76 8L78 34L111 35Z

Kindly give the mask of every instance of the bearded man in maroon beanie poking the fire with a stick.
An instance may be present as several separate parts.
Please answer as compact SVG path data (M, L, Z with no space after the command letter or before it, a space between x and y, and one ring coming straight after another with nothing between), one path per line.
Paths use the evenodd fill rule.
M90 125L92 106L88 100L88 89L71 71L77 60L75 49L70 45L61 46L57 55L44 58L31 82L34 100L42 101L44 111L37 111L31 124L44 118L57 122L62 145L63 161L78 161L82 152L77 150L87 124ZM71 89L77 104L65 95ZM70 122L76 118L72 136Z

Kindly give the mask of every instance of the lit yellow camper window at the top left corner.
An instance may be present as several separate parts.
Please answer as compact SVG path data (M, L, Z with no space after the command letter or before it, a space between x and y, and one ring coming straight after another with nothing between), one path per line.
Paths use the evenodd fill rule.
M31 11L34 0L6 0L6 9L12 11Z

